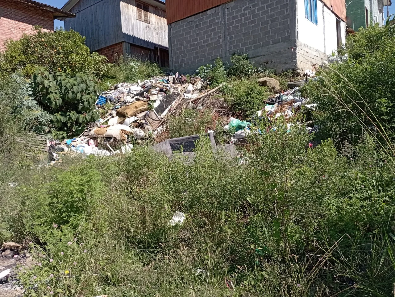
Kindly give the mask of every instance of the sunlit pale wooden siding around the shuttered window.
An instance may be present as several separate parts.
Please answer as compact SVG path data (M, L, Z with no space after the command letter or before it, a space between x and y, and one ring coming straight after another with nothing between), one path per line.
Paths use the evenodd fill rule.
M135 0L122 0L120 11L124 41L150 49L169 47L166 11L149 5L149 23L137 20Z

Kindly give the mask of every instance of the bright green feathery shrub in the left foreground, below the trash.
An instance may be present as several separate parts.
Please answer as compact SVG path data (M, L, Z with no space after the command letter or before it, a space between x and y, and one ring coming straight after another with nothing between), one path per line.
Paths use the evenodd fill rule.
M30 236L44 239L53 224L77 231L84 220L88 222L103 193L100 176L94 168L89 168L89 162L87 166L59 172L47 184L36 184L38 188L34 191L21 189L26 197L23 207L29 213Z

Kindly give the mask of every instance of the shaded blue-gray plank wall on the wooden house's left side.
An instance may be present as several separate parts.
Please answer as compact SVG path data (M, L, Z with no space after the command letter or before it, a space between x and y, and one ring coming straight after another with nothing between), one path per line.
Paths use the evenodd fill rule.
M122 41L120 4L117 0L80 0L70 9L75 19L65 19L64 28L86 36L86 45L96 51Z

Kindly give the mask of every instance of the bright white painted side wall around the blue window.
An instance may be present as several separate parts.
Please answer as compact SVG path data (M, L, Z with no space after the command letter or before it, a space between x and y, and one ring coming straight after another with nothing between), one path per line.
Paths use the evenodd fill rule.
M346 40L346 24L341 21L342 43ZM336 16L321 1L317 1L317 24L305 17L305 2L297 0L297 38L299 41L331 55L337 50Z

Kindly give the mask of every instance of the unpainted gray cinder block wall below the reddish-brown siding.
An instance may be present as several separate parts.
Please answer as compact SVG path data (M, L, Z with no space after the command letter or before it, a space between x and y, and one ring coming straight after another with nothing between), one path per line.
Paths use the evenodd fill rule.
M277 71L295 68L294 2L235 0L169 24L170 68L192 73L235 51Z

